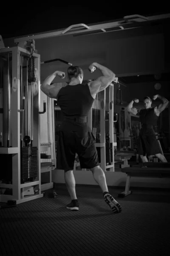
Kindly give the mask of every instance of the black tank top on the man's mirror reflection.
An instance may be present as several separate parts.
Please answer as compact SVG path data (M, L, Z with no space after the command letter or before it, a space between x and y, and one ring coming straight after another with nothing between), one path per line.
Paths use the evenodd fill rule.
M156 125L159 116L156 116L154 108L142 109L139 112L141 124Z

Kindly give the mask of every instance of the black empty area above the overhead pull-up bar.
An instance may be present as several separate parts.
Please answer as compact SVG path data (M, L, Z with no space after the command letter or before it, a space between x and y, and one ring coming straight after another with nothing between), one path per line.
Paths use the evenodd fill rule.
M50 30L66 28L73 24L104 23L116 19L122 19L125 15L160 15L168 13L168 7L158 6L155 9L142 3L130 6L112 2L88 1L87 4L57 3L51 1L34 3L35 1L23 1L15 3L1 3L0 5L0 35L10 38L22 35L33 35Z

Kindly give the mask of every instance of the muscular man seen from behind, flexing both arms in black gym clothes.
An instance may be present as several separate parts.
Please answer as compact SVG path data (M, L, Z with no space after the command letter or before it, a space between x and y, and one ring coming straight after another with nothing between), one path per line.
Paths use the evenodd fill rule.
M57 144L57 169L65 170L65 183L71 196L71 203L67 205L67 208L79 209L73 174L77 153L80 167L92 171L94 180L102 189L105 202L113 212L121 212L122 207L108 192L105 173L98 162L95 138L87 123L88 112L93 105L96 94L105 90L115 78L115 74L111 70L98 63L92 63L89 66L91 72L94 72L96 68L102 72L102 76L82 84L82 69L77 66L69 67L69 83L62 88L55 86L55 84L50 85L55 76L65 77L65 73L56 71L45 79L41 85L41 90L47 96L57 99L57 104L64 115Z

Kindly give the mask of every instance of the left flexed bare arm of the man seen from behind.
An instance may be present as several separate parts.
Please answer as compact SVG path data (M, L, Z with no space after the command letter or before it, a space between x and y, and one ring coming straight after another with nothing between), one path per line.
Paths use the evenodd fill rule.
M48 97L56 99L61 86L58 87L55 84L51 84L56 76L61 77L62 79L65 78L65 73L62 71L55 71L50 76L48 76L44 82L41 84L41 90L45 93Z

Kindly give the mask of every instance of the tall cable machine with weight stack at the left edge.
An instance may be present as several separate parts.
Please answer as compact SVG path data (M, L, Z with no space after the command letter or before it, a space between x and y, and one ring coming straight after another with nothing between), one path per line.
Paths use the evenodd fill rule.
M26 68L24 68L24 65ZM37 70L37 75L35 70ZM0 49L0 202L41 198L40 55L28 49Z

